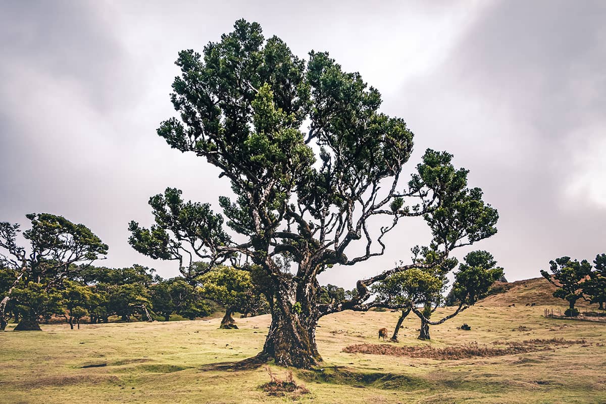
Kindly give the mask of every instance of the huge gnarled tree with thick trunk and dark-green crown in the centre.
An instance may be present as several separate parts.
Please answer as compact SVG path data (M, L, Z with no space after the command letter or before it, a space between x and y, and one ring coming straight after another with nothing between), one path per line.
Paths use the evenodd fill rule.
M219 205L231 231L210 204L184 202L169 188L150 199L155 224L131 222L130 243L177 260L184 273L194 259L210 268L241 257L253 264L245 268L261 268L271 325L259 358L305 368L321 361L318 319L367 310L368 286L416 264L359 280L356 297L342 302L319 302L318 275L383 254L385 234L402 217L425 218L441 259L496 232L496 210L479 188L467 188L467 170L454 169L450 154L427 150L402 184L413 133L379 111L376 88L328 53L311 51L305 62L276 36L266 40L259 24L240 20L202 54L181 51L176 64L171 101L179 117L162 122L158 134L230 181L235 198L220 197Z

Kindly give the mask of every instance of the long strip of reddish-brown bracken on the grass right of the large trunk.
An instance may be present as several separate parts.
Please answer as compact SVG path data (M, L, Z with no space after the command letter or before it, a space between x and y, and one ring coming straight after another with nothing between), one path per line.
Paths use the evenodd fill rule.
M536 351L548 351L554 346L587 344L585 340L565 339L531 339L524 341L496 341L493 346L469 343L453 345L445 348L433 348L429 345L395 346L391 344L362 343L346 346L343 352L373 355L407 356L412 358L427 358L439 360L457 360L471 357L491 357L524 354Z

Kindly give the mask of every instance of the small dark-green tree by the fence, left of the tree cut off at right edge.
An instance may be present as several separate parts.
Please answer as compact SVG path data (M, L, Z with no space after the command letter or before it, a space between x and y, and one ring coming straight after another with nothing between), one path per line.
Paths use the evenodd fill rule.
M574 308L574 304L577 300L584 298L583 287L591 273L591 264L587 260L573 261L570 257L556 258L549 263L551 274L541 270L541 275L558 287L553 296L568 302L568 309L564 312L565 316L578 316L579 311Z

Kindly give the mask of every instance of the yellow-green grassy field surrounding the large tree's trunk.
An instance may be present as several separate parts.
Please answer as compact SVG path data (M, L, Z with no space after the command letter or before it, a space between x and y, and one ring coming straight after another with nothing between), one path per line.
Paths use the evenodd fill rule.
M606 322L544 319L543 312L544 306L474 306L432 327L431 342L416 339L419 322L411 316L401 342L385 344L456 350L473 342L507 349L507 342L530 339L585 341L458 360L344 353L349 345L382 344L378 328L393 331L398 313L324 317L318 328L322 369L294 371L310 390L299 402L606 403ZM291 397L268 397L259 389L269 381L264 366L222 370L214 365L258 353L269 320L239 319L237 330L218 329L220 320L213 319L83 325L73 331L48 325L43 332L0 333L0 402L291 402ZM457 328L464 322L471 331ZM107 365L82 368L101 363ZM278 376L285 373L271 369Z

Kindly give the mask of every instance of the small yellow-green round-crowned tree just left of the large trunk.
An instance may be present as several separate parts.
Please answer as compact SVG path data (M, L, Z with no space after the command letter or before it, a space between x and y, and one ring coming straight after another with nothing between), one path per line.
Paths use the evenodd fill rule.
M198 278L202 296L225 306L220 328L238 328L232 315L246 311L253 296L253 283L248 271L220 265Z

